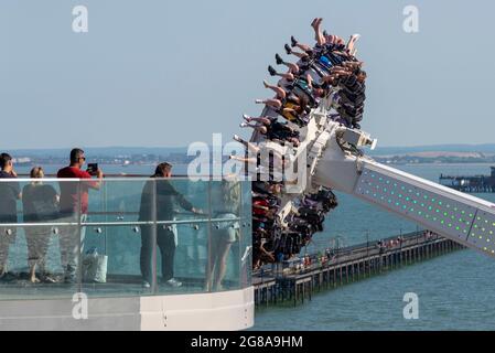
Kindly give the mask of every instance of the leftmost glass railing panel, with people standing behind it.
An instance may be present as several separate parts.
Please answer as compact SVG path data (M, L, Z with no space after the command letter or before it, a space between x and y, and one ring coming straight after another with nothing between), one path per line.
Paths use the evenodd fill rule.
M78 291L79 183L0 181L0 299Z

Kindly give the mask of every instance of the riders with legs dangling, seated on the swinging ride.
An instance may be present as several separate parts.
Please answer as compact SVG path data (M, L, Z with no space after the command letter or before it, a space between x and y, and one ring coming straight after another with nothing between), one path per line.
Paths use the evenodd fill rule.
M315 45L300 43L293 36L290 44L284 45L287 55L298 58L295 63L276 54L276 63L283 69L270 65L268 73L279 81L276 85L263 82L265 87L272 90L275 96L256 99L257 104L265 105L262 115L244 115L244 121L240 124L240 127L255 129L256 138L245 141L239 136L234 136L234 139L245 145L247 151L255 157L232 158L259 165L261 149L254 142L260 141L297 149L302 142L301 131L309 124L311 111L319 107L322 99L331 101L327 119L347 128L361 128L367 75L362 68L363 62L356 58L355 44L359 35L351 35L345 42L337 35L322 31L321 23L320 18L311 23ZM283 153L277 153L275 150L273 154L270 154L270 176L273 176L273 169L282 169L289 163ZM320 188L315 193L299 197L294 203L295 207L281 220L278 215L286 186L283 178L254 181L255 268L299 254L315 232L323 231L325 214L337 205L332 191Z

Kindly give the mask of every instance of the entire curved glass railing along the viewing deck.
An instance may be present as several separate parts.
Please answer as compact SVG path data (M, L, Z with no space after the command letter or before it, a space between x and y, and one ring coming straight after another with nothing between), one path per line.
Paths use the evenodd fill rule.
M251 285L248 182L18 179L0 180L0 300L203 293ZM168 260L182 286L165 281ZM32 281L33 266L41 282ZM149 288L142 286L147 268Z

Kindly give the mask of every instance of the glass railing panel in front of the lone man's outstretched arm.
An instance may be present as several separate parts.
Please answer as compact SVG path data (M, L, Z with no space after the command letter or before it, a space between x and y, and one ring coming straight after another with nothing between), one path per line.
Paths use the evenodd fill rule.
M157 291L203 291L209 232L208 182L157 179L155 190Z

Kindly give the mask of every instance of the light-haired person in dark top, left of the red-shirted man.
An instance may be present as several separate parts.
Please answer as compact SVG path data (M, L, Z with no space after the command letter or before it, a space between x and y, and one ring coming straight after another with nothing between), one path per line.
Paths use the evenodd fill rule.
M31 170L31 179L44 178L41 167ZM53 222L58 218L58 194L52 185L33 181L22 189L22 210L24 223ZM28 243L28 264L30 266L30 280L54 282L46 274L45 257L49 250L52 227L46 225L25 227L24 234ZM36 265L40 265L40 277L36 278Z

